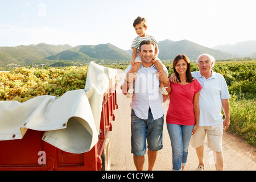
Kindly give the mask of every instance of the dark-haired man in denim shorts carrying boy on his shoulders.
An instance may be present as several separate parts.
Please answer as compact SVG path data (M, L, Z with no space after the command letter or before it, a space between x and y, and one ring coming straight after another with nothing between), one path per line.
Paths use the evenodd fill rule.
M150 40L144 40L139 47L142 64L137 73L130 73L131 66L126 69L127 76L122 84L126 95L129 82L134 81L134 94L131 101L131 152L134 154L134 164L137 170L143 170L144 155L146 155L146 140L148 148L148 170L155 164L158 150L163 148L164 111L162 103L168 96L159 92L158 70L152 63L155 56L155 45ZM166 74L159 79L164 82L167 92L171 92L167 68Z

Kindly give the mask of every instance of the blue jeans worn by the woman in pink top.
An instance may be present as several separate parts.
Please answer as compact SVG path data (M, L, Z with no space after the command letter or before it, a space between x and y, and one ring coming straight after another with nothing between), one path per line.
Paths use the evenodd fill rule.
M194 125L168 124L167 129L172 145L172 169L181 170L188 158L188 146L191 139Z

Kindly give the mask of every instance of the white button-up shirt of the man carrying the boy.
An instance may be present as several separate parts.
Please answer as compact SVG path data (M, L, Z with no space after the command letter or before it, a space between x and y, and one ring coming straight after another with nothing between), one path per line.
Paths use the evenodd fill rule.
M168 76L167 68L163 65ZM129 72L131 65L126 68L125 74ZM156 78L158 70L154 65L151 67L141 67L137 71L137 78L134 81L134 93L131 101L131 108L135 115L141 119L148 118L150 107L154 120L163 117L163 95L159 92L159 80Z

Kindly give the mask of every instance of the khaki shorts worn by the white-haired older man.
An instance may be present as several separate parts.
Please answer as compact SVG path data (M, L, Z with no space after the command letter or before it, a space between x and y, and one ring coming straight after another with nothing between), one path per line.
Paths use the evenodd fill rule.
M208 147L216 152L222 151L223 122L214 126L199 126L191 137L191 145L198 148L205 144L207 134Z

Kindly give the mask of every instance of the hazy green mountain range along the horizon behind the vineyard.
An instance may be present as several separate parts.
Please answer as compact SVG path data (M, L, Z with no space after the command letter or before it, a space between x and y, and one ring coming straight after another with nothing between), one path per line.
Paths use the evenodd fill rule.
M208 48L189 40L163 40L158 44L159 59L173 60L179 54L185 54L196 60L202 53L209 53L218 59L256 57L256 41L241 42L234 45ZM113 44L81 45L72 47L68 44L51 45L40 43L30 46L0 47L0 64L24 64L36 60L131 60L131 49L125 51Z

